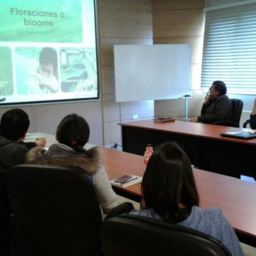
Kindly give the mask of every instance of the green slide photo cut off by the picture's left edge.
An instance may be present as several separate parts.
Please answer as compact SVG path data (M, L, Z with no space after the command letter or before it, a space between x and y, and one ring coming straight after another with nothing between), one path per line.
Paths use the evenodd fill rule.
M0 96L11 94L13 94L11 49L9 49L9 47L0 47ZM1 100L2 99L3 98L1 97Z

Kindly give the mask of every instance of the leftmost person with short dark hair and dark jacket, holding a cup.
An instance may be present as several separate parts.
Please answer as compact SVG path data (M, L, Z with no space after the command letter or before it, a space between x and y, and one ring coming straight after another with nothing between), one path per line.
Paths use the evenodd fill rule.
M8 110L0 121L0 169L6 171L13 165L25 163L25 156L34 146L45 146L45 139L23 142L29 128L29 118L21 109Z

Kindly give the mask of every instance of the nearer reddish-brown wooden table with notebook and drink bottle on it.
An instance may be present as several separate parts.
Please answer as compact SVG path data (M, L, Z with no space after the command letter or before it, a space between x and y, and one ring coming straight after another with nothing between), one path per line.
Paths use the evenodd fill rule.
M123 174L143 176L143 157L102 149L104 166L110 180ZM256 184L237 178L193 169L200 196L200 207L221 208L241 242L256 247ZM115 188L118 194L141 200L141 185Z

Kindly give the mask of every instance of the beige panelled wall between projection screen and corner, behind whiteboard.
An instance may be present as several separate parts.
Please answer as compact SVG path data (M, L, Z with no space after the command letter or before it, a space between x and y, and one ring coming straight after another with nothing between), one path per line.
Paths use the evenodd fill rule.
M153 117L154 101L115 102L115 44L152 44L151 0L98 0L104 145L121 142L118 123Z

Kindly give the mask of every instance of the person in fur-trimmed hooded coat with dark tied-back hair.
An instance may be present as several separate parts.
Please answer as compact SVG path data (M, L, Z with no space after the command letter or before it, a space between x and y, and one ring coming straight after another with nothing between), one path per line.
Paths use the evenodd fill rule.
M49 150L35 147L26 156L27 163L71 166L91 175L97 197L104 213L117 206L117 196L112 190L98 147L85 150L88 142L89 126L84 118L76 114L67 115L57 127L56 140Z

